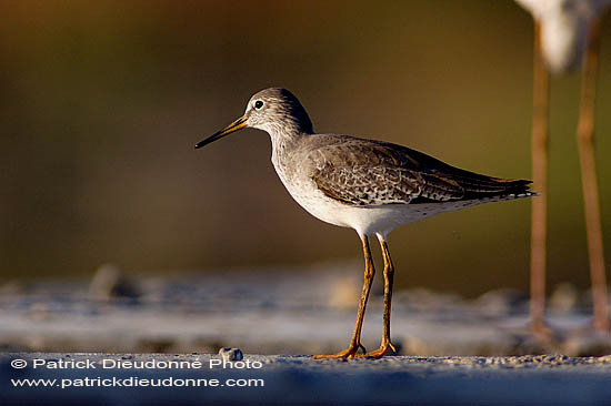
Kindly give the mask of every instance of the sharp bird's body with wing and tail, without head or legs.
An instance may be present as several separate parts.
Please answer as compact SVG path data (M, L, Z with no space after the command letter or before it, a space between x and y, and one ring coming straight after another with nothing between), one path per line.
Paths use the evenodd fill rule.
M291 196L313 216L359 234L387 235L434 214L532 194L529 181L463 171L388 142L311 134L280 151L272 163Z

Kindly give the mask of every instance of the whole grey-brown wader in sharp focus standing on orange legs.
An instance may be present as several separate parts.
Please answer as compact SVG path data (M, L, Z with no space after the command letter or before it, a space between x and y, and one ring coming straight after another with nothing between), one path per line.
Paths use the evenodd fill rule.
M306 211L327 223L354 229L361 238L364 283L350 345L338 354L317 358L379 358L397 353L390 339L394 265L387 244L393 229L481 203L534 195L529 191L530 181L464 171L389 142L315 134L299 100L279 88L254 94L241 118L199 142L196 149L243 128L268 132L276 172ZM372 235L380 242L384 261L383 334L380 348L365 353L361 327L375 273L369 248Z

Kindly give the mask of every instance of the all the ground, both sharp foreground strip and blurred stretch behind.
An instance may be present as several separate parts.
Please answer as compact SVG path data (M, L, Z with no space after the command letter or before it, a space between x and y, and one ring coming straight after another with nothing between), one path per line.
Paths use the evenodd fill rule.
M93 281L4 284L0 405L611 404L609 337L592 332L588 293L568 286L550 298L548 341L530 334L520 292L467 300L415 288L394 295L400 356L300 355L348 344L361 283L353 268L174 278L107 268ZM381 313L374 291L363 326L370 351L379 344ZM257 367L217 365L220 347L240 348L241 363ZM137 362L150 364L128 365ZM57 380L44 380L49 387L11 380L26 378Z

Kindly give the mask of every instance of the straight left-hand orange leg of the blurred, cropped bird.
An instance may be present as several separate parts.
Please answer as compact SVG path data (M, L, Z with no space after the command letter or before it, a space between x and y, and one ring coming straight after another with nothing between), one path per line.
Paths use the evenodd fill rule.
M541 195L532 200L530 255L530 315L534 334L548 338L544 325L548 240L549 72L541 50L541 22L534 22L532 114L532 179Z

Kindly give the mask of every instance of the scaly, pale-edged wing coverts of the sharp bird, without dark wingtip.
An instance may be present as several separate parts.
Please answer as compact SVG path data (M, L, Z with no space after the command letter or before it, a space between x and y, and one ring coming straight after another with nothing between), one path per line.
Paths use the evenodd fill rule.
M420 171L417 162L383 143L349 141L320 148L309 158L319 190L349 205L408 204L418 197L449 201L464 195L454 180Z

